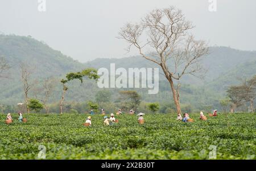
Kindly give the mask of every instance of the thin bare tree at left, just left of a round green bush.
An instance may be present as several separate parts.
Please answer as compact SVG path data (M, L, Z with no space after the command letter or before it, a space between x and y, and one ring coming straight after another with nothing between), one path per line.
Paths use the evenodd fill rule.
M20 71L21 71L21 79L23 83L23 91L24 91L24 104L26 105L26 112L29 113L28 105L28 92L32 87L37 84L37 81L34 80L33 82L31 79L31 74L34 72L35 67L29 66L27 63L20 63Z

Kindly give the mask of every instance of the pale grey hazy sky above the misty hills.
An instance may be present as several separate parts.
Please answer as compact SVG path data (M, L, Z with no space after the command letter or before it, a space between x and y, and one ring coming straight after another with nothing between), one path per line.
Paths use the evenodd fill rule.
M46 0L46 12L38 0L0 0L0 31L32 36L81 62L95 58L120 58L127 44L116 39L119 28L137 22L153 8L174 5L196 25L197 39L210 45L256 50L256 1L216 0Z

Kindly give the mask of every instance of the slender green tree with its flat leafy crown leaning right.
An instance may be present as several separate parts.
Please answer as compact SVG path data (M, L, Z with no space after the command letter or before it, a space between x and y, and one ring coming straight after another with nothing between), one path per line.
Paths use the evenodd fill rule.
M65 93L68 90L68 87L67 87L66 84L69 81L74 80L74 79L79 79L80 82L82 83L83 78L85 76L87 78L93 79L93 80L98 80L98 78L100 78L100 76L97 75L97 70L96 69L85 69L85 70L82 70L81 72L71 72L71 73L68 73L66 75L66 79L61 79L60 80L60 82L61 82L61 84L63 86L63 93L62 93L61 100L60 100L60 114L63 113L64 96L65 96Z

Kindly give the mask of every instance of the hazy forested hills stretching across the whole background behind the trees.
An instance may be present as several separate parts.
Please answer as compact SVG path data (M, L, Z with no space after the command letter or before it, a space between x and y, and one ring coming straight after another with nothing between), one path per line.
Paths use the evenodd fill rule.
M62 87L60 80L68 72L77 72L86 68L110 67L110 63L115 63L116 67L157 67L139 56L119 59L95 59L87 63L80 63L67 57L57 50L51 49L42 41L32 37L0 35L0 57L6 59L10 69L8 76L0 78L0 112L18 112L21 109L17 104L24 102L24 91L22 82L23 63L27 70L31 72L28 84L32 85L28 92L30 99L42 101L44 97L44 83L52 85L51 96L47 103L49 113L59 113L59 101ZM230 86L242 83L245 78L250 79L256 73L256 52L247 52L227 47L210 47L209 55L205 56L203 65L208 72L204 79L185 77L181 82L180 96L181 109L184 112L212 112L213 109L224 111L221 100L228 98ZM170 66L171 67L171 66ZM160 78L159 93L148 95L147 89L118 89L97 87L93 80L84 79L83 83L77 80L68 83L68 91L64 102L65 113L88 113L92 104L98 105L100 109L105 109L108 113L116 112L122 108L123 100L120 91L136 91L141 97L135 112L152 112L148 104L159 104L158 113L174 113L175 105L172 101L170 85L163 78ZM102 101L99 96L106 96ZM130 105L126 101L127 106ZM129 103L129 104L128 104ZM255 102L254 102L255 103ZM254 104L255 105L255 104ZM127 107L128 112L133 105ZM240 105L236 112L250 111L247 102ZM46 113L45 109L41 110Z

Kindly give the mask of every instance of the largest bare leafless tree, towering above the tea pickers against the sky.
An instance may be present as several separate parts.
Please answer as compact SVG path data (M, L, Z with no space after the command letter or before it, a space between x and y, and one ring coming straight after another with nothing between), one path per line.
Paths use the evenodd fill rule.
M189 34L192 28L181 10L171 6L152 10L139 24L126 24L118 37L129 43L128 50L134 46L143 58L162 68L178 113L181 109L174 80L180 80L183 75L201 77L205 70L200 61L209 52L205 41L197 41ZM145 49L152 53L148 55Z

